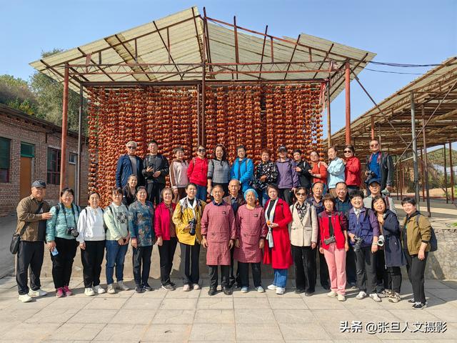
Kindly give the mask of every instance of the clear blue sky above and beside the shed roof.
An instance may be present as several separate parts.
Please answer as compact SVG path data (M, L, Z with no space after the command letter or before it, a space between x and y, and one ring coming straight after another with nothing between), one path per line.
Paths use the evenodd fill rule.
M71 49L144 24L190 6L224 21L236 15L238 25L275 36L304 32L372 51L374 61L436 64L457 54L456 0L386 1L120 1L0 0L0 74L28 79L29 62L41 51ZM428 68L371 69L423 73ZM381 101L418 77L363 71L361 82ZM344 92L332 102L332 131L344 126ZM372 104L356 82L351 83L352 119Z

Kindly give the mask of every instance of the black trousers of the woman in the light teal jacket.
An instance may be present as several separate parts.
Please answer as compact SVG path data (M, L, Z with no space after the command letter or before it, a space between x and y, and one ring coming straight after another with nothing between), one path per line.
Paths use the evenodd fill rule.
M74 257L76 256L76 248L79 243L76 239L65 239L56 237L56 249L59 254L53 256L52 260L52 279L56 289L68 286L70 283L71 269L73 268Z

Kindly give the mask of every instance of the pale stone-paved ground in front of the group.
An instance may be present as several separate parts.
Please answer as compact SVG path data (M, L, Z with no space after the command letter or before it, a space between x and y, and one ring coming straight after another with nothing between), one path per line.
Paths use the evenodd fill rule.
M269 280L263 280L268 285ZM207 295L208 280L201 291L174 292L162 289L134 294L86 297L81 279L74 279L73 297L56 299L53 294L21 304L13 278L0 279L0 342L457 342L457 282L426 281L428 307L411 309L406 302L411 284L403 282L403 300L398 304L371 299L356 300L356 291L346 302L326 297L316 289L312 297L287 289L283 296L236 291ZM131 285L131 282L128 282ZM158 280L151 280L154 288ZM52 289L51 279L43 289ZM443 333L340 332L341 320L367 322L447 322Z

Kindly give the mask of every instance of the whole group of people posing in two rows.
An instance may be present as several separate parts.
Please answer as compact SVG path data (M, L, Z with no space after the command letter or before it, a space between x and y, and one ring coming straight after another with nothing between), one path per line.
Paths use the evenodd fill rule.
M263 262L274 271L268 289L283 294L293 265L295 292L311 296L317 259L321 285L330 291L328 297L339 301L346 299L346 282L358 288L356 299L400 301L400 268L406 265L413 284L413 308L426 307L423 275L430 223L417 211L415 199L405 198L406 219L400 226L388 197L393 181L391 156L379 151L376 140L370 147L363 173L368 197L360 190L361 164L351 145L344 148L343 159L335 147L328 149L328 163L321 161L317 151L311 151L309 162L298 149L290 159L286 146L279 147L274 162L271 151L263 149L261 161L254 166L244 146L236 149L232 165L222 144L216 145L212 159L206 159L204 146L197 146L190 161L178 146L169 164L156 141L149 142L144 159L136 156L136 143L129 141L127 153L118 161L112 202L105 209L99 207L100 195L94 191L81 210L73 203L72 189L63 189L59 204L49 207L44 201L46 184L34 182L31 196L18 206L16 232L27 226L17 259L19 299L28 302L46 294L39 284L46 240L57 297L72 294L69 282L77 247L88 296L129 289L123 277L129 244L135 291L152 290L148 279L154 244L159 247L162 288L174 290L170 274L179 243L184 292L200 289L199 254L204 247L209 295L217 292L219 271L222 292L231 294L233 287L248 292L249 265L254 289L265 292ZM167 174L171 188L166 187ZM100 287L105 249L106 289Z

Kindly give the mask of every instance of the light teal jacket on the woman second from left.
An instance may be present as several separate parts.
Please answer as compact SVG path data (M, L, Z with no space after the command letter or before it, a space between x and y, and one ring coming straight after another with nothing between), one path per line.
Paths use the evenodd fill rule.
M58 207L59 213L56 215ZM46 241L54 241L56 237L75 239L71 234L66 234L66 229L68 227L74 227L76 229L81 208L75 204L71 204L71 209L64 209L64 204L59 203L51 207L49 212L51 212L52 217L46 222Z

